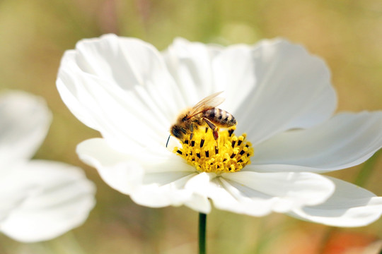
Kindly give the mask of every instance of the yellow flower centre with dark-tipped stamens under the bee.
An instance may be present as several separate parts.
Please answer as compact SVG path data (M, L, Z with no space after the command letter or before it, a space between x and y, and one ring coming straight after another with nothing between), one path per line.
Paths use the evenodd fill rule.
M235 126L219 131L215 140L210 128L198 128L185 135L182 147L175 147L174 152L198 171L218 174L240 171L250 163L253 147L245 133L237 137L234 130Z

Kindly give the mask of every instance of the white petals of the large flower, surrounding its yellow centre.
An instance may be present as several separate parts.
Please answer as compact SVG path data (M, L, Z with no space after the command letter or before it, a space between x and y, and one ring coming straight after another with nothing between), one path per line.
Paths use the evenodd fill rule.
M332 116L328 68L301 46L177 39L160 53L141 40L105 35L64 54L57 88L71 112L103 136L79 144L79 157L140 205L209 212L211 199L222 210L287 212L337 226L369 224L382 213L382 198L317 174L371 157L382 145L382 112ZM236 117L235 133L247 133L254 149L251 163L233 173L197 171L175 155L175 138L166 149L180 111L219 91L226 98L219 107Z

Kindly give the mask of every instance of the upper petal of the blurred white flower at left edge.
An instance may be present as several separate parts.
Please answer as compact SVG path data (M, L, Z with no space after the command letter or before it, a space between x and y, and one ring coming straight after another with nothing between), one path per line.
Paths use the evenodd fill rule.
M0 96L0 164L30 159L47 135L52 116L44 100L26 92Z

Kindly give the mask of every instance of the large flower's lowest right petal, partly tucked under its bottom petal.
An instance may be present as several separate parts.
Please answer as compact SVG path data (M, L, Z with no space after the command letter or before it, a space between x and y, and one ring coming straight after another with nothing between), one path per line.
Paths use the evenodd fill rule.
M323 204L294 210L292 216L329 226L366 226L382 214L382 197L339 179L335 193Z

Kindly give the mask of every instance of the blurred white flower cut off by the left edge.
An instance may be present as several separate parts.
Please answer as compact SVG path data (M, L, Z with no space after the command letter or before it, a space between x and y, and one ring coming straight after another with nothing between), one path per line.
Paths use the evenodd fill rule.
M47 134L45 102L25 92L0 95L0 231L17 241L45 241L82 224L95 187L81 169L30 158Z

